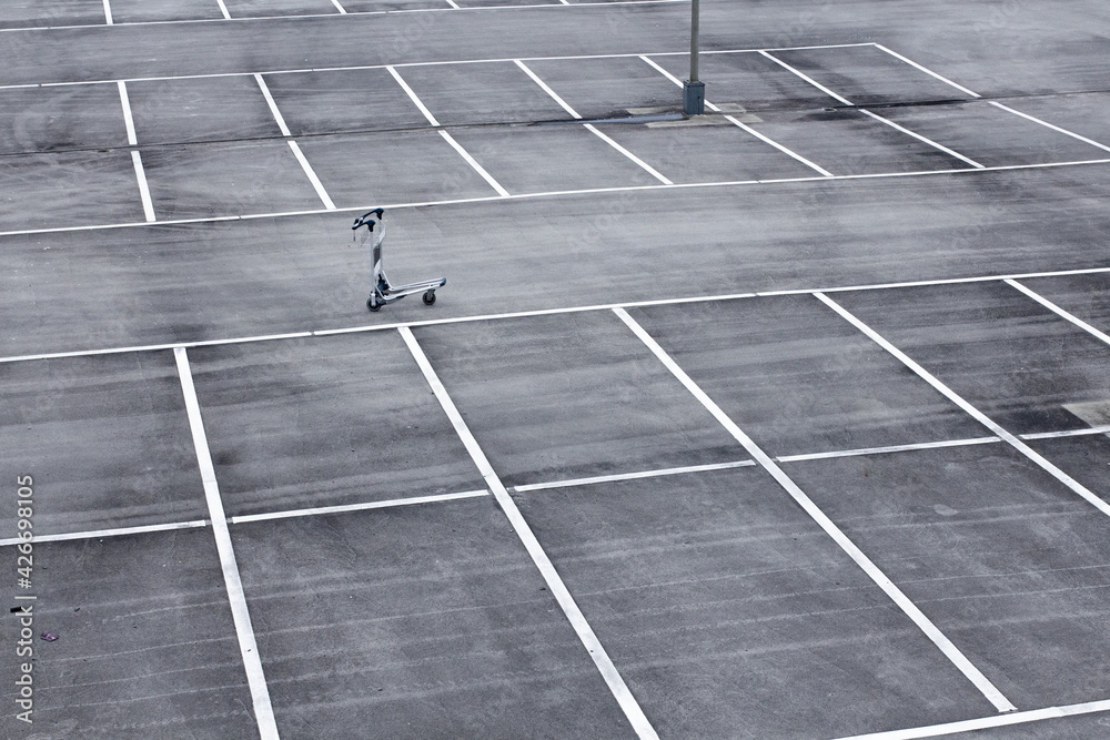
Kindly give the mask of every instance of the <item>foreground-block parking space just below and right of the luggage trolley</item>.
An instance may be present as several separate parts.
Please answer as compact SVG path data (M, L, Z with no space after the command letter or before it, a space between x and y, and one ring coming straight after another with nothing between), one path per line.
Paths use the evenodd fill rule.
M506 485L747 457L606 312L414 334Z

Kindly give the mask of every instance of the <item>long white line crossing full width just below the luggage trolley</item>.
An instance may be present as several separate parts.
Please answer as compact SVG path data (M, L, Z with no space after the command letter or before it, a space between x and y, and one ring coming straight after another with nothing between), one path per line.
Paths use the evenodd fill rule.
M497 199L491 199L497 200ZM366 210L362 207L361 210ZM360 210L360 209L355 209ZM73 349L69 352L48 352L33 355L12 355L0 357L0 364L33 362L37 359L64 359L67 357L95 357L99 355L118 355L137 352L164 352L175 347L213 347L228 344L248 344L255 342L276 342L281 339L305 339L316 336L336 336L340 334L361 334L366 332L385 332L401 328L402 326L443 326L446 324L467 324L472 322L501 321L505 318L528 318L533 316L554 316L571 313L587 313L592 311L612 311L614 308L639 308L644 306L670 306L684 303L713 303L718 301L739 301L745 298L769 297L775 295L813 295L815 293L846 293L860 291L887 291L901 287L928 287L938 285L961 285L967 283L997 283L1011 277L1015 280L1026 280L1032 277L1063 277L1069 275L1099 275L1110 273L1110 267L1087 267L1083 270L1062 270L1059 272L1022 273L1016 275L981 275L975 277L949 277L932 281L908 281L905 283L877 283L862 285L845 285L839 287L799 287L785 291L767 291L760 293L724 293L716 295L699 295L694 297L670 297L653 298L649 301L625 301L622 303L601 303L582 306L561 306L558 308L536 308L533 311L512 311L500 314L473 314L470 316L454 316L451 318L425 318L413 322L397 322L392 324L363 324L360 326L347 326L343 328L310 330L305 332L290 332L286 334L263 334L258 336L226 337L221 339L199 339L196 342L175 342L165 344L132 345L122 347L103 347L100 349Z

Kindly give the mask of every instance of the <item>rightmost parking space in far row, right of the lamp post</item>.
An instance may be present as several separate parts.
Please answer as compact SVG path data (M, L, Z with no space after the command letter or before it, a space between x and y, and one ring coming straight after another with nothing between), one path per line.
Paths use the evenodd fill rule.
M972 98L871 44L775 51L773 55L856 105Z

